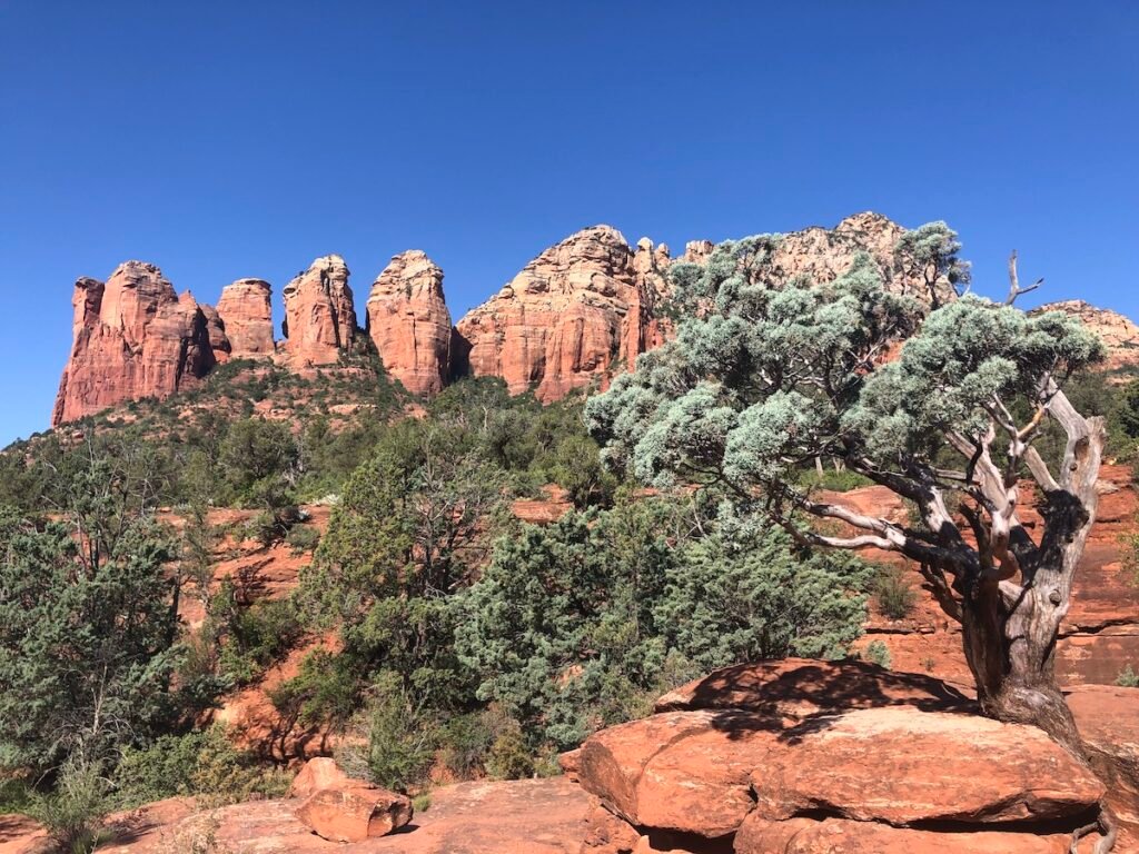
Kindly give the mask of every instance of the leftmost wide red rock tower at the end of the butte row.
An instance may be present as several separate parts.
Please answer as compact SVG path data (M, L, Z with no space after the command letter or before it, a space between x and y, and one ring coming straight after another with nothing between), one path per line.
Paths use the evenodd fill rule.
M51 424L125 400L167 397L200 379L224 351L224 334L194 297L181 297L154 264L128 261L106 284L75 282L71 356ZM212 340L213 339L213 340Z

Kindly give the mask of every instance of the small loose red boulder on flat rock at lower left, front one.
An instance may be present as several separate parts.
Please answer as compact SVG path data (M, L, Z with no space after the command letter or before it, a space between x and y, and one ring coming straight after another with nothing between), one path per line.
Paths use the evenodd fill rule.
M323 839L360 843L402 828L411 812L403 795L361 785L320 789L297 807L296 816Z

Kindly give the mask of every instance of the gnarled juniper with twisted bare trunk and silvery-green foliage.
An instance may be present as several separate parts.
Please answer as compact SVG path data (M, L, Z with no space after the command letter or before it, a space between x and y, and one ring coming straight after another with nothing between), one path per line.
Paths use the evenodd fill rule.
M887 289L869 256L827 284L778 282L777 241L724 243L706 265L674 268L675 339L588 403L607 461L653 485L718 484L804 543L909 558L961 623L983 711L1079 752L1054 652L1096 515L1104 425L1063 385L1103 345L1064 314L1014 307L1029 289L1015 257L1005 303L923 295L967 280L943 223L898 246L911 294ZM1033 447L1046 419L1066 435L1062 459ZM818 458L909 500L920 522L819 500L798 476ZM1026 476L1041 492L1035 536L1019 516Z

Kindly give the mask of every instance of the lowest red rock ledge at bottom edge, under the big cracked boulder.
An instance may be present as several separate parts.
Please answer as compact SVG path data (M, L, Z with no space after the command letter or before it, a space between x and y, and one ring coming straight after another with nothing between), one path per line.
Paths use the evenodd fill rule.
M749 815L736 835L736 854L1066 854L1066 834L909 830L870 821ZM1090 851L1090 841L1088 851Z

